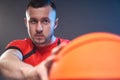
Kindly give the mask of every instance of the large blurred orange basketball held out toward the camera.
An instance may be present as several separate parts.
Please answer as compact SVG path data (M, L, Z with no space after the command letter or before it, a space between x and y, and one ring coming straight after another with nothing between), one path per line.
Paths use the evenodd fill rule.
M58 53L49 78L120 79L120 36L94 32L75 38Z

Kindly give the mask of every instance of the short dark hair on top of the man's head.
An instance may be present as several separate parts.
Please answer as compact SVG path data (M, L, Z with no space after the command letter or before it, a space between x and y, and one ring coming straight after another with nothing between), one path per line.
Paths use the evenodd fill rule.
M44 6L47 6L47 5L50 5L53 8L53 10L56 11L56 5L51 0L31 0L28 3L26 9L28 9L30 6L33 7L33 8L39 8L39 7L44 7Z

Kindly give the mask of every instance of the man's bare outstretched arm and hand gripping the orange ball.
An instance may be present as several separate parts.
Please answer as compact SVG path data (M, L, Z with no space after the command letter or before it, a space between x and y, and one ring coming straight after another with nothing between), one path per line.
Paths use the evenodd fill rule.
M15 49L7 50L0 57L1 73L3 76L7 77L8 80L49 80L49 66L51 66L51 62L55 58L55 55L65 45L66 44L63 43L54 48L52 55L35 67L22 62L20 51Z

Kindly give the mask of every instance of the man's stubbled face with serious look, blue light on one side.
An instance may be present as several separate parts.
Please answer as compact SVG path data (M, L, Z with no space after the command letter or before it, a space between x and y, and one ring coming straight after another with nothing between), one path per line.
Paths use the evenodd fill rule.
M26 11L25 23L32 41L40 46L51 42L58 20L56 12L50 7L29 7Z

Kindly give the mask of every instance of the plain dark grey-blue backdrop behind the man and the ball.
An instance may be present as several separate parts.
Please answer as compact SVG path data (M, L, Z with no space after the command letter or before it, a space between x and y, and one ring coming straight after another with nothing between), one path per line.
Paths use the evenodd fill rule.
M14 39L28 37L24 24L29 0L0 0L0 53ZM56 36L73 39L106 31L120 34L120 0L55 0L59 17Z

